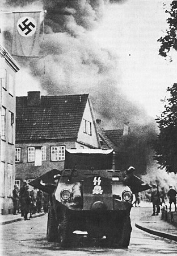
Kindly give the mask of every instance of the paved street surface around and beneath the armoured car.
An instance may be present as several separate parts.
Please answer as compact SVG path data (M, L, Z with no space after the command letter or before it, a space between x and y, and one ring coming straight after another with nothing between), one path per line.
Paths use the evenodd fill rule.
M49 243L46 239L47 214L30 221L19 221L3 225L1 239L1 255L176 255L177 242L159 238L137 229L134 224L149 214L149 208L132 208L132 235L128 249L109 249L103 247L75 247L62 249L57 243ZM148 216L147 216L148 217Z

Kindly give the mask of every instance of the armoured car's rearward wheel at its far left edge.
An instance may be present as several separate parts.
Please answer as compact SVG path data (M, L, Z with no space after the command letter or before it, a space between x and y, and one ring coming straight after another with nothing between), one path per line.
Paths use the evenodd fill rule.
M53 206L50 205L47 222L47 240L48 242L54 242L57 239L57 225L54 217Z

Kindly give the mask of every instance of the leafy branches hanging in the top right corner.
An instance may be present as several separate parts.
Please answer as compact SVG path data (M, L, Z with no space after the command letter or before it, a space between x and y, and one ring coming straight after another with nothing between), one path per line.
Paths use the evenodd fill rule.
M167 19L168 30L165 36L158 39L158 42L161 42L159 54L164 57L167 56L171 48L177 51L177 1L172 1L170 7L170 10L166 10L166 13L170 15Z

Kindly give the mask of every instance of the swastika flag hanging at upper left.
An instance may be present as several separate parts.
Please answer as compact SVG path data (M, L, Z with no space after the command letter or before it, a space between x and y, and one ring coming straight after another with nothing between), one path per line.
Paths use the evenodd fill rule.
M14 13L12 55L39 56L40 13Z

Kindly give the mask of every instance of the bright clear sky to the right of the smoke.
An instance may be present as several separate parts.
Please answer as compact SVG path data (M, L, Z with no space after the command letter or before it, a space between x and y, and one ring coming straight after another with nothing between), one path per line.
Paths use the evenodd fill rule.
M171 3L133 0L109 5L102 22L91 32L96 43L117 54L125 94L153 117L163 111L161 99L177 81L177 54L172 53L172 62L158 54L157 40L167 28L164 2Z

